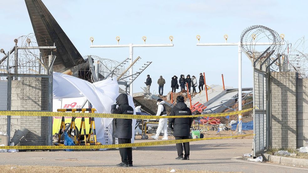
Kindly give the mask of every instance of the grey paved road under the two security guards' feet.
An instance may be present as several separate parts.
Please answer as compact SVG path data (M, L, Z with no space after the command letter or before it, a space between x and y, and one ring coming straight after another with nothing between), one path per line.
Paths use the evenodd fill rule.
M144 142L144 140L137 140ZM169 168L185 170L214 170L242 172L308 172L308 168L236 159L251 152L250 139L206 140L191 143L191 160L175 160L175 145L139 147L133 150L135 168ZM0 165L53 166L114 166L121 162L118 150L53 151L0 153ZM128 168L133 169L133 168Z

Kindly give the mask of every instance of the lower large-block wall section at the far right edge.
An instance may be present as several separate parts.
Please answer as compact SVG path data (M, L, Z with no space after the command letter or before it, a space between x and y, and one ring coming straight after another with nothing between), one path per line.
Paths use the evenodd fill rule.
M297 145L308 142L308 79L297 79Z

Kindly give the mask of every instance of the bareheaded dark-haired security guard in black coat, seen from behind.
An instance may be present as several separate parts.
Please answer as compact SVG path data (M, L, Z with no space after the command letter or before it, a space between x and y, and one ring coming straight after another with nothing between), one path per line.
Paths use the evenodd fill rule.
M184 97L179 95L176 98L176 105L171 109L170 116L191 115L191 109L184 103ZM169 128L173 129L176 140L189 139L190 128L193 118L169 118ZM183 146L185 155L183 157ZM189 142L176 144L178 157L175 159L189 160Z

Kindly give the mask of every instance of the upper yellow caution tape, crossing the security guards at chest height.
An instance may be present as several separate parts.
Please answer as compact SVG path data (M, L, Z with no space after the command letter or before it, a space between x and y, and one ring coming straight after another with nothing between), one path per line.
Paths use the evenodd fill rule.
M99 114L99 113L75 113L75 112L35 112L35 111L0 111L0 115L7 116L64 116L64 117L97 117L97 118L121 118L121 119L160 119L160 118L190 118L190 117L222 117L236 115L253 110L244 109L234 112L218 114L199 115L175 115L175 116L153 116L153 115L129 115L129 114Z

